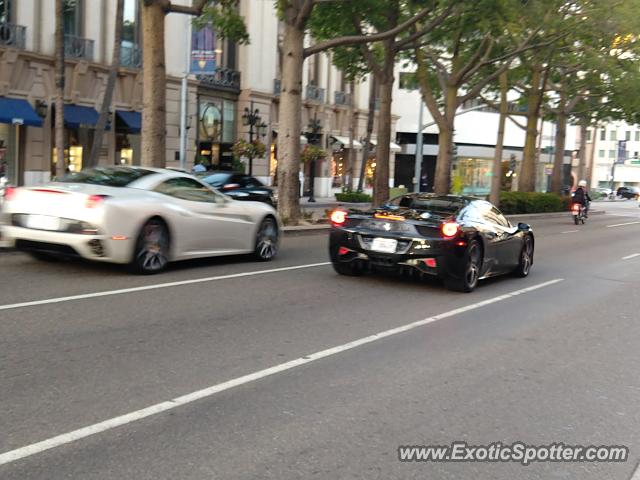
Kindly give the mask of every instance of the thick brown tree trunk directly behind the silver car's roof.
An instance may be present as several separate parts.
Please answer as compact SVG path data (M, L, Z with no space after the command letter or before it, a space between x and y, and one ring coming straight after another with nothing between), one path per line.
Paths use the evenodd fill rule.
M166 165L166 68L162 2L141 2L142 11L142 145L141 164Z

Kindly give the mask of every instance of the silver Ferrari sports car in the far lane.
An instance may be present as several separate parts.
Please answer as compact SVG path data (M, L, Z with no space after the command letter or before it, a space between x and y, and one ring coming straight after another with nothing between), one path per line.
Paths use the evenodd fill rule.
M280 222L179 171L96 167L37 187L9 188L2 238L38 259L80 256L156 273L198 257L278 252Z

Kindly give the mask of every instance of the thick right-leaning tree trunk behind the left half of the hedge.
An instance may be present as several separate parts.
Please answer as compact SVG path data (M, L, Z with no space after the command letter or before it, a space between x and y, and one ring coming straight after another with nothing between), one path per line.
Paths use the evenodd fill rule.
M540 115L541 68L533 67L531 88L527 95L527 133L524 144L522 168L518 179L518 190L535 192L536 190L536 139L538 137L538 118Z

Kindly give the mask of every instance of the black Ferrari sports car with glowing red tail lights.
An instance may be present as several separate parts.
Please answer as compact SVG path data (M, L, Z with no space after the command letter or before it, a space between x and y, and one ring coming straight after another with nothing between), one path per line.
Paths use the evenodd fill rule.
M370 211L331 215L329 256L341 275L371 268L442 278L452 290L533 265L531 227L511 223L491 203L472 197L415 193Z

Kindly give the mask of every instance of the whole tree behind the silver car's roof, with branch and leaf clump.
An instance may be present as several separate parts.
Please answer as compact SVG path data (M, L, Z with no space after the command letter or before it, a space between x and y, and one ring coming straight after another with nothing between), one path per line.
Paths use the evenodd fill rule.
M248 43L237 0L194 0L193 6L170 0L143 0L142 3L142 146L141 163L164 167L166 164L166 67L164 60L164 17L183 13L212 24L221 38Z

